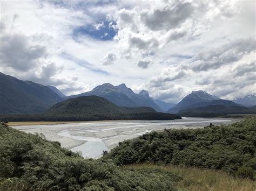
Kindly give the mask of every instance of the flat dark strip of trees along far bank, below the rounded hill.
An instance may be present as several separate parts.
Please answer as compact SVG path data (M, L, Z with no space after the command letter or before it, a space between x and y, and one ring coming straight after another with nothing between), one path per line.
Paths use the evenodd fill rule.
M132 114L96 114L96 115L61 115L61 114L35 114L35 115L0 115L0 121L9 122L38 122L38 121L104 121L104 120L173 120L181 119L174 114L162 112L140 112Z

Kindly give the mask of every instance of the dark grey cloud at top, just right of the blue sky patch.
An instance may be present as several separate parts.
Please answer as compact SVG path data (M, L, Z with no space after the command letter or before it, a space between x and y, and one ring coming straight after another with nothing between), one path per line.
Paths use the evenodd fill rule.
M179 27L193 13L190 3L178 2L174 8L166 7L164 10L146 11L140 14L142 22L152 31L174 29Z

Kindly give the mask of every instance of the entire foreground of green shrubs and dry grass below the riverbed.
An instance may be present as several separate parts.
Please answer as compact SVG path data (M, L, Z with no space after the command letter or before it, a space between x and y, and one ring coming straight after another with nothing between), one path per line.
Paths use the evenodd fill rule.
M253 179L255 123L251 118L220 127L152 132L120 143L98 160L2 123L0 190L253 190L248 179L186 166Z

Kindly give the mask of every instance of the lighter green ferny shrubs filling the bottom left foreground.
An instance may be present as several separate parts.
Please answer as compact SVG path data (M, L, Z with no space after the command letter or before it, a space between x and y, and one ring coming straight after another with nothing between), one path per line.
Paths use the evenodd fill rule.
M45 140L0 125L0 190L174 190L178 176L133 172L111 160L84 159Z

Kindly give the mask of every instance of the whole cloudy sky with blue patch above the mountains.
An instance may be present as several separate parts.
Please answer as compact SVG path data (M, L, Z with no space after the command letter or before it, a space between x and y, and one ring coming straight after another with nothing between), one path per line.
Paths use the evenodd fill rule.
M0 72L65 95L103 83L177 103L256 93L256 1L0 0Z

